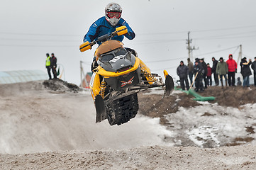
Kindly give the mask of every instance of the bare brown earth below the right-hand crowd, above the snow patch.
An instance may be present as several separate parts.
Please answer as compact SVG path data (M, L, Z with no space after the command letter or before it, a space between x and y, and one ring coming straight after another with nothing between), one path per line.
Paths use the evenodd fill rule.
M179 88L179 87L178 87ZM143 94L150 93L150 90ZM161 93L161 90L159 90ZM219 106L230 106L240 108L247 103L256 103L256 87L245 88L243 86L209 86L205 91L199 91L201 96L213 96L216 98L209 103L218 103ZM160 122L165 125L165 115L176 113L179 107L190 108L201 104L193 100L194 96L186 93L175 93L163 98L162 94L139 95L140 113L152 118L160 118Z

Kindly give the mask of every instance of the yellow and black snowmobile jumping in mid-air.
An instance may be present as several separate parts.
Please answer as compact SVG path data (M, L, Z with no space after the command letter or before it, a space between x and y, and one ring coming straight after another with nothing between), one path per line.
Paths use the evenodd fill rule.
M169 96L174 89L174 81L166 70L164 83L158 74L150 72L134 50L123 47L118 40L111 40L127 32L126 26L121 26L113 33L102 35L93 42L84 42L79 47L84 52L101 42L94 53L99 66L93 70L89 83L96 123L105 119L110 125L127 123L138 113L138 92L161 86L165 89L164 96Z

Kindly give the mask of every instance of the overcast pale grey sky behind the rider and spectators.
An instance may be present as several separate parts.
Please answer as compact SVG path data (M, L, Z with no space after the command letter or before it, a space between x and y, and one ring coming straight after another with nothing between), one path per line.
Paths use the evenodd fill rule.
M91 23L104 16L111 1L1 0L0 71L45 69L45 53L55 53L65 67L67 81L79 84L79 61L89 72L94 50L79 52ZM177 77L180 60L187 63L187 33L195 57L238 58L256 56L255 0L140 0L115 1L122 17L135 31L134 40L123 40L138 52L152 72L162 69ZM228 49L228 50L225 50ZM162 60L162 62L159 62Z

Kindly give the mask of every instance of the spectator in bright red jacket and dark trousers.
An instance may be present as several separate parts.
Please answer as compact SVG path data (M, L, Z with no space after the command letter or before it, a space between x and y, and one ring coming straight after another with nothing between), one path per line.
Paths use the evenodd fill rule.
M235 86L235 72L238 69L238 64L233 60L233 55L228 56L226 63L228 65L228 85Z

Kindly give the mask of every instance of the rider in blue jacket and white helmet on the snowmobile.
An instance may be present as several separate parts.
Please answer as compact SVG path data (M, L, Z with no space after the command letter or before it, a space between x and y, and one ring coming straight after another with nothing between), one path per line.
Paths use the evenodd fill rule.
M124 36L126 36L126 38L128 38L129 40L133 40L133 38L135 38L135 33L130 28L128 23L126 23L126 21L121 18L121 15L122 8L119 4L108 4L105 8L105 16L99 18L91 25L87 34L84 35L84 42L92 42L94 40L97 40L102 35L114 32L116 28L120 26L126 26L128 33L126 33ZM113 37L112 40L122 41L124 36L116 36ZM97 43L101 45L101 42ZM98 63L96 62L96 58L94 57L94 60L91 63L91 71L96 67L98 67Z

